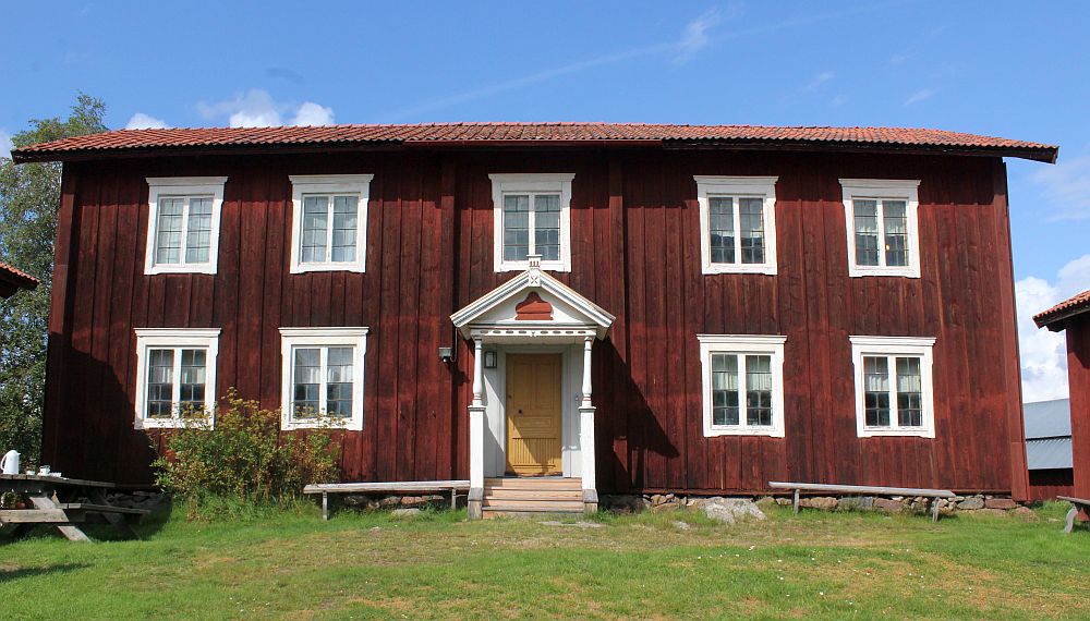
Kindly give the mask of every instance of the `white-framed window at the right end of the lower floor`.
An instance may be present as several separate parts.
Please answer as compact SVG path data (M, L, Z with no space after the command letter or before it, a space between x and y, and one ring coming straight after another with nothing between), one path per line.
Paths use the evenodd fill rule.
M935 437L930 337L850 337L856 429L872 436Z

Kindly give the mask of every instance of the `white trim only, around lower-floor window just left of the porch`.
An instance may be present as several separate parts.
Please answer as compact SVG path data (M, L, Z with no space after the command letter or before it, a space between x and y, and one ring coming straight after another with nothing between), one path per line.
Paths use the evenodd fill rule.
M353 431L363 430L363 369L367 350L367 328L280 328L280 428L313 429L331 426ZM341 421L323 418L320 422L296 422L291 416L291 395L294 375L292 350L295 348L355 348L352 361L352 417Z

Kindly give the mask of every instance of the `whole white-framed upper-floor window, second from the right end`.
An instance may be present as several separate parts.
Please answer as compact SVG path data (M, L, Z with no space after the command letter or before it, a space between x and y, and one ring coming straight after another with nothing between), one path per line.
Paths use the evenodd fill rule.
M776 273L776 176L693 176L703 273Z

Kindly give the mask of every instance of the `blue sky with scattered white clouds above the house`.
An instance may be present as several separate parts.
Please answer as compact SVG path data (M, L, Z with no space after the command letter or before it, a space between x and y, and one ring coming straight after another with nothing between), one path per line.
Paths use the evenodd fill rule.
M464 4L464 5L463 5ZM1090 289L1090 3L24 2L0 153L76 90L111 127L429 121L927 126L1009 161L1026 395L1066 395L1029 315Z

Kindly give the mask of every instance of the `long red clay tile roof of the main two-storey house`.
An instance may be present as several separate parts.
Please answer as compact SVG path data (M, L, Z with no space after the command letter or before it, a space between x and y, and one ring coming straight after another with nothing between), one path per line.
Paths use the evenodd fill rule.
M65 160L141 150L316 145L441 145L488 143L658 145L720 144L935 150L1022 157L1055 162L1059 148L973 134L898 127L773 127L644 123L433 123L328 125L319 127L213 127L118 130L29 145L12 151L16 162Z

